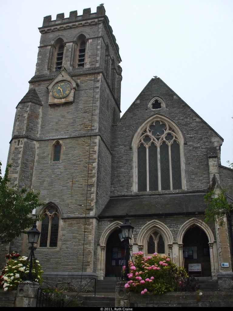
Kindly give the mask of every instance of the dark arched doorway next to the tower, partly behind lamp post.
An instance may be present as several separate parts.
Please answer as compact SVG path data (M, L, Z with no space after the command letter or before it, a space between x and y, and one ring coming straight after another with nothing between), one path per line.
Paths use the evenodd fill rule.
M115 230L110 234L106 244L105 276L121 276L124 248L119 238L120 230Z

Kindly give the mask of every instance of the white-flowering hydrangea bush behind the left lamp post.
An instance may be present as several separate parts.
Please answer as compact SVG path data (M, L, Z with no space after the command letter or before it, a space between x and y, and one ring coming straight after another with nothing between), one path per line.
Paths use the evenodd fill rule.
M20 256L19 254L13 252L11 254L5 255L6 258L9 258L7 260L7 265L2 270L1 276L0 276L0 287L4 289L4 291L7 290L13 290L16 289L20 282L23 280L23 275L27 278L29 273L29 264L26 266L27 257ZM41 283L43 281L42 274L43 271L41 269L41 266L39 264L39 261L36 260L37 263L37 274L38 278L35 278L35 267L34 262L32 261L32 280L36 281L38 283ZM25 270L26 268L26 270ZM25 273L24 273L25 272Z

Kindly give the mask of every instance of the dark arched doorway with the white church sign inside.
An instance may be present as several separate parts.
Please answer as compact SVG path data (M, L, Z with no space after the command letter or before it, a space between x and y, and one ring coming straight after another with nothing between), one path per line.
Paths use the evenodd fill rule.
M183 238L184 267L189 271L189 264L201 264L202 272L190 272L200 276L211 276L210 250L208 237L199 226L192 226Z

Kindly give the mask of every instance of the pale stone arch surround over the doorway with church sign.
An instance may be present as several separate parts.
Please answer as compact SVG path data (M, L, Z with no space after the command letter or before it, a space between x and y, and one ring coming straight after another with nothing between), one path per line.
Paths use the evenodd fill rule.
M177 234L177 243L179 246L179 262L180 262L180 266L183 267L183 242L184 242L184 238L185 238L185 243L187 243L187 241L189 240L187 238L187 235L185 237L185 234L189 234L190 232L188 230L190 230L191 228L199 228L199 230L202 230L204 234L201 233L201 235L203 236L202 239L205 239L205 236L207 237L208 241L208 247L209 247L209 258L210 258L210 266L211 266L211 275L212 276L217 276L217 267L218 267L218 261L217 261L217 244L216 241L214 239L214 235L211 231L211 229L208 227L207 224L205 224L202 220L196 219L196 218L192 218L188 221L186 221L181 227L180 230ZM196 232L196 231L195 231ZM196 239L197 240L197 239ZM186 245L185 245L186 247ZM203 243L199 243L199 247L203 247L204 248L204 244ZM215 254L215 256L214 256ZM200 253L199 253L199 256Z

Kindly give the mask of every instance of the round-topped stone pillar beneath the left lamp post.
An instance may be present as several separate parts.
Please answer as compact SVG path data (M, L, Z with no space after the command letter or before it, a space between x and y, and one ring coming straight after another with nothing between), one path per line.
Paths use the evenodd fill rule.
M21 282L16 293L14 307L36 307L39 284L33 281Z

